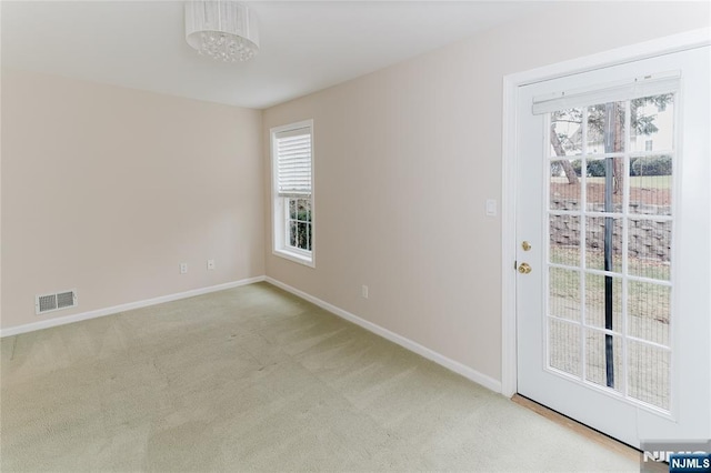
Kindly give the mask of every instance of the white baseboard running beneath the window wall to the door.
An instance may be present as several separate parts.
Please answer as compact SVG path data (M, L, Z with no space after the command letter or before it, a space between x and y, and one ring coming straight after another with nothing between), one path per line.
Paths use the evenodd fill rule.
M377 325L372 322L369 322L364 319L359 318L358 315L353 315L352 313L344 311L343 309L337 308L336 305L329 304L326 301L322 301L318 298L314 298L311 294L308 294L303 291L300 291L296 288L292 288L288 284L284 284L281 281L278 281L273 278L264 278L264 281L267 281L270 284L276 285L277 288L283 289L287 292L290 292L294 295L298 295L301 299L304 299L318 306L320 306L321 309L326 309L329 312L332 312L333 314L346 319L349 322L354 323L356 325L362 326L363 329L368 330L369 332L372 332L377 335L382 336L383 339L390 340L393 343L399 344L402 348L405 348L408 350L410 350L411 352L414 352L417 354L419 354L420 356L424 356L425 359L433 361L437 364L440 364L444 368L447 368L450 371L453 371L454 373L461 374L462 376L467 378L468 380L473 381L474 383L481 384L484 388L490 389L491 391L494 391L497 393L501 393L501 382L498 380L494 380L491 376L488 376L483 373L480 373L477 370L473 370L467 365L463 365L462 363L454 361L452 359L449 359L431 349L428 349L427 346L422 346L421 344L413 342L410 339L407 339L402 335L399 335L394 332L389 331L388 329L383 329L380 325Z

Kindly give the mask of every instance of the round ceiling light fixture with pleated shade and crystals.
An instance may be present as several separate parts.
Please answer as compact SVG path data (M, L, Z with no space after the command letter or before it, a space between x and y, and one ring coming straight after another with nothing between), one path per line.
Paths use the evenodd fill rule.
M259 49L257 17L236 1L189 1L186 40L200 54L226 62L247 61Z

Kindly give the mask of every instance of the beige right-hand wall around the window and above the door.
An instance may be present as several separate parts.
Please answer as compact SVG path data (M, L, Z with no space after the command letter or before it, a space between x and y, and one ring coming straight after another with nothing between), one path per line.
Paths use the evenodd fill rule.
M708 3L557 3L267 110L266 151L271 127L314 120L318 219L317 268L268 248L267 274L500 380L501 221L484 201L501 202L503 76L708 26Z

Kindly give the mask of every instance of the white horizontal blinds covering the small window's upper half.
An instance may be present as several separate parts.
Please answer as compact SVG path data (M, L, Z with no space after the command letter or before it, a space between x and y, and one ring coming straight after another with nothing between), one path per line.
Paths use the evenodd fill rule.
M311 128L276 133L277 189L279 195L311 193Z

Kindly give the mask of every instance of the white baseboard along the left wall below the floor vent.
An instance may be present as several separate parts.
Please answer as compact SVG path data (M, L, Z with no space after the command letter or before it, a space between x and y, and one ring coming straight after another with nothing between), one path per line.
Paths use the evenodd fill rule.
M19 335L21 333L32 332L36 330L49 329L51 326L66 325L68 323L79 322L82 320L97 319L104 315L111 315L119 312L126 312L133 309L147 308L149 305L162 304L163 302L178 301L180 299L193 298L196 295L208 294L210 292L223 291L226 289L239 288L240 285L252 284L254 282L264 281L266 278L257 276L243 279L240 281L227 282L224 284L211 285L209 288L192 289L176 294L161 295L160 298L147 299L144 301L129 302L128 304L113 305L106 309L97 309L96 311L81 312L78 314L61 316L57 319L47 319L39 322L27 323L24 325L11 326L0 330L0 338Z

